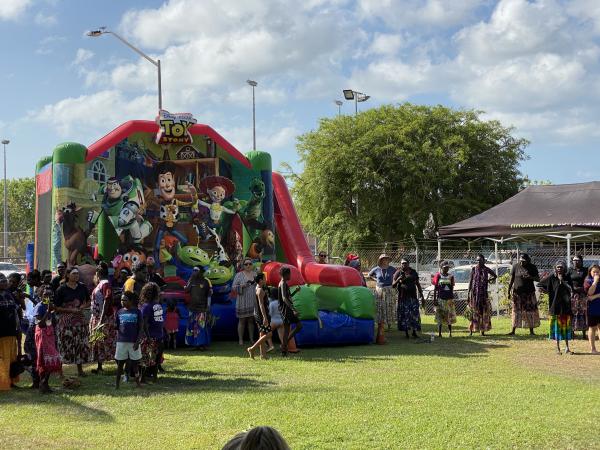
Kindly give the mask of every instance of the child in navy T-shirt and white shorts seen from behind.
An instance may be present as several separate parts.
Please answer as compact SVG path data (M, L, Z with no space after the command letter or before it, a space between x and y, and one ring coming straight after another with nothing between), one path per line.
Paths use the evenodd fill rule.
M132 372L136 374L135 381L140 386L140 374L138 362L142 359L140 341L143 337L143 318L138 309L138 296L135 292L124 292L121 297L123 308L117 312L115 325L117 327L117 350L115 360L117 361L117 379L115 388L119 389L121 375L125 363L129 361Z

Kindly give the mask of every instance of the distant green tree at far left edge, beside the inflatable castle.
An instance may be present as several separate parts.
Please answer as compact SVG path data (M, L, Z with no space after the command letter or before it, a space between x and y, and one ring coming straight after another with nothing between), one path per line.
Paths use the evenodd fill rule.
M35 179L7 180L8 231L34 231ZM0 204L4 207L4 185L0 182ZM4 214L0 211L0 232L4 230Z

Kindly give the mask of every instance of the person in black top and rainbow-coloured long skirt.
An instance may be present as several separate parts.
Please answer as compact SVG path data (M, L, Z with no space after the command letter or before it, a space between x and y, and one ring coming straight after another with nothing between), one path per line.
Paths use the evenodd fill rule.
M571 293L573 284L571 277L566 273L567 265L564 261L558 261L554 266L554 273L546 276L538 283L538 287L548 293L550 313L550 339L556 341L556 353L562 354L560 341L565 341L566 354L573 354L569 348L569 339L573 338L571 327Z

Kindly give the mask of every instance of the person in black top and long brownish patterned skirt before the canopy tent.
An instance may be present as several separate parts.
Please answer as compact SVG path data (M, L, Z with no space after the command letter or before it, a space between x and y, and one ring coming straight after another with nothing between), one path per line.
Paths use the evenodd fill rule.
M535 295L535 281L540 281L537 267L532 264L527 253L521 253L519 264L515 264L510 273L508 296L512 301L512 331L517 328L529 328L529 334L535 334L534 328L540 326L540 312Z

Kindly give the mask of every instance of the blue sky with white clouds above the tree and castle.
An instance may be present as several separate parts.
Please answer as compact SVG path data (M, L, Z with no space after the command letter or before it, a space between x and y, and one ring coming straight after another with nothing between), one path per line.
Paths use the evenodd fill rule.
M90 145L157 113L192 112L240 151L301 171L296 137L337 114L409 101L484 111L531 141L533 180L600 179L597 0L0 0L0 138L9 177L55 145ZM342 114L353 114L344 102ZM585 161L589 160L589 163Z

